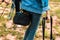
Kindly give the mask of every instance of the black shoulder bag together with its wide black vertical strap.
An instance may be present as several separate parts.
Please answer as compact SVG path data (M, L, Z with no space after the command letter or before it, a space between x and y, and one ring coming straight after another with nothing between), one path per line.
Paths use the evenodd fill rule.
M27 11L23 10L23 12L20 11L20 0L15 0L15 7L16 7L16 14L13 18L13 23L14 24L19 24L19 25L29 25L30 23L30 14L26 13Z

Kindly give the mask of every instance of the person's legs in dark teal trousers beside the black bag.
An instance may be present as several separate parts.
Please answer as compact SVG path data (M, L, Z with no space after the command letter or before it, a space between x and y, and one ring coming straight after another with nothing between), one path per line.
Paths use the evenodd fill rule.
M32 13L31 24L25 33L24 40L33 40L34 39L34 35L38 28L38 24L40 21L40 17L41 17L41 14Z

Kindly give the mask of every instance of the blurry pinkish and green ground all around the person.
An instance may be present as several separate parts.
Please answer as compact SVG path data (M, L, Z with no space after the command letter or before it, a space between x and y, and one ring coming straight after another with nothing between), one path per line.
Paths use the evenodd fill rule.
M49 13L53 17L53 39L60 40L60 2L50 2L49 5L51 7ZM1 14L4 8L1 6L0 9ZM0 16L0 40L23 40L24 33L28 26L13 24L12 19L15 12L10 14L10 16L12 16L12 19L10 20L8 17L10 10L11 8L8 6L5 9L4 14ZM45 14L43 14L42 17L43 16L45 16ZM45 39L49 40L49 38L50 22L46 22ZM42 24L39 25L34 40L42 40Z

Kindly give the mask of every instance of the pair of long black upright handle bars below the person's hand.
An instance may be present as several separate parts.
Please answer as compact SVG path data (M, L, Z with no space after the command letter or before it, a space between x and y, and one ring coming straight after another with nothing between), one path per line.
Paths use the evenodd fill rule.
M46 21L46 18L47 17L43 17L43 19L42 19L42 31L43 31L43 40L45 40L45 21ZM53 40L53 36L52 36L52 21L53 21L53 19L52 19L52 16L50 16L50 25L51 25L51 30L50 30L50 40Z

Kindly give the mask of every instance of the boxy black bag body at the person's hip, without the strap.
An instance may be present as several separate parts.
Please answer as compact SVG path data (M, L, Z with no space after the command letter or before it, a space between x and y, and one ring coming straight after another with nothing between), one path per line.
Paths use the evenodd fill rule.
M19 12L15 14L13 18L13 23L26 26L26 25L29 25L30 20L31 19L29 14L24 14Z

